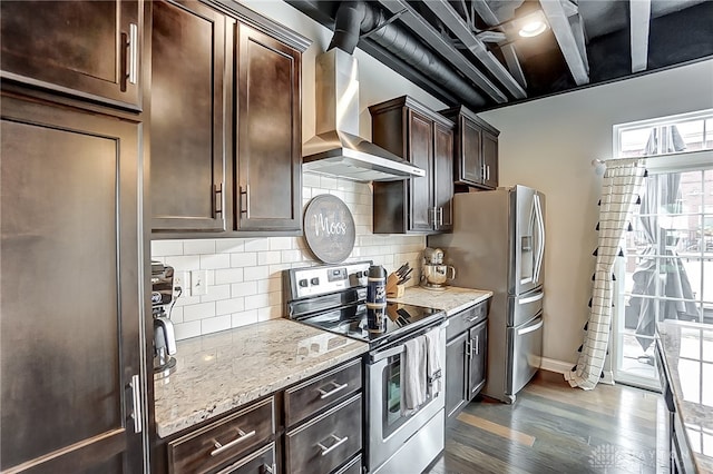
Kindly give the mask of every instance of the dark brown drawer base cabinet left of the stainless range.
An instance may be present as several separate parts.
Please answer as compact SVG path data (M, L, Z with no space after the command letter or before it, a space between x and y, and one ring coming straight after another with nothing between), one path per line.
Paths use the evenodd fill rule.
M157 473L362 472L362 359L166 440ZM158 450L160 452L162 450Z

